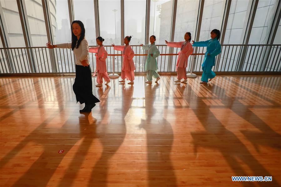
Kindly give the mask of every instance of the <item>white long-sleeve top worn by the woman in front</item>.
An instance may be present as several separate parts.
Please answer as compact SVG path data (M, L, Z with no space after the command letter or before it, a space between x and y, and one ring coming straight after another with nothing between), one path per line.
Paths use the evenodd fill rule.
M72 43L61 43L61 44L57 44L58 48L64 48L64 49L71 49L71 44ZM89 54L89 45L88 45L88 41L86 40L86 38L84 38L79 47L78 48L74 48L73 49L73 53L75 56L75 64L82 66L80 61L83 60L88 60L88 54ZM88 64L90 64L89 60L88 60Z

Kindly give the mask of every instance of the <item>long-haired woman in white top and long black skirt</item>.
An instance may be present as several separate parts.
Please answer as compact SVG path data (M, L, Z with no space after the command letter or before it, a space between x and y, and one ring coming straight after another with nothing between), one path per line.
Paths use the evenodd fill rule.
M80 104L85 103L85 107L80 110L80 112L91 112L92 108L96 106L95 103L100 101L93 95L92 91L92 75L88 62L89 45L85 38L85 27L81 21L73 21L71 29L72 43L52 45L48 42L47 47L49 49L58 47L73 50L76 64L76 77L73 84L73 91L76 95L76 101L79 101Z

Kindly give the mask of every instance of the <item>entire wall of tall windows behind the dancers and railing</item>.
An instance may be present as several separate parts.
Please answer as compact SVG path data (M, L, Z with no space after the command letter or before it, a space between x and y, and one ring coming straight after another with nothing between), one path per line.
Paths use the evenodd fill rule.
M173 7L174 0L150 0L150 6L147 7L148 0L71 0L73 1L73 19L83 22L86 30L86 38L90 46L96 46L96 25L99 27L99 34L105 39L104 45L112 43L120 45L123 43L124 36L132 36L131 45L136 54L145 54L138 45L145 43L149 34L156 36L156 44L160 53L178 53L180 48L173 48L165 45L165 40L183 41L184 34L191 32L192 40L195 40L196 26L198 25L198 9L200 0L178 0L177 7ZM18 11L17 2L23 4L23 20L26 23L27 30L23 32L21 24L21 12ZM56 68L57 72L74 72L75 61L73 52L70 49L54 49L54 54L50 53L45 44L48 41L46 32L46 20L44 17L43 4L46 2L46 13L50 21L51 38L53 44L71 42L71 23L69 14L68 0L0 0L1 22L3 24L3 33L5 43L8 47L26 47L26 41L23 33L27 34L26 40L29 40L33 48L8 49L2 50L0 59L5 59L6 67L0 67L0 71L11 71L15 73L32 72L52 72ZM122 3L121 3L122 2ZM98 17L95 14L94 3L98 4ZM248 29L249 15L253 11L253 1L250 0L232 0L227 20L226 31L224 35L224 44L243 44L245 32ZM268 44L269 35L272 32L273 20L277 15L277 8L280 0L259 0L256 13L253 17L253 27L250 29L248 44ZM121 12L121 4L124 4L124 12ZM221 30L226 0L205 0L203 5L199 41L210 39L210 32L213 29ZM45 6L44 6L45 7ZM149 8L149 31L146 32L147 8ZM175 28L172 28L173 10L176 8L176 17L174 18ZM49 11L49 12L48 12ZM124 27L121 25L121 16L124 15ZM99 20L97 20L99 19ZM97 24L98 22L98 24ZM48 25L48 24L47 24ZM24 28L25 29L25 28ZM174 30L174 36L171 31ZM148 42L149 43L149 42ZM281 25L279 22L278 30L273 44L281 44ZM3 47L0 42L0 47ZM110 54L120 54L114 51L112 47L106 47ZM204 53L206 47L194 47L198 53ZM279 62L278 55L280 47L272 48L263 46L223 46L221 55L217 56L220 63L216 63L216 71L237 71L242 70L279 70L281 65L275 66ZM52 50L51 50L52 51ZM243 52L243 56L241 56ZM275 53L277 54L275 55ZM275 57L274 57L275 55ZM4 57L3 57L4 56ZM95 70L94 54L89 54L92 71ZM176 55L159 56L157 59L159 71L175 71ZM193 57L193 56L192 56ZM245 60L241 57L245 57ZM219 59L218 59L219 58ZM51 64L51 59L55 59L55 64ZM122 57L108 57L108 71L113 70L112 62L115 60L115 71L120 71L122 66ZM9 63L7 63L9 60ZM134 62L136 71L144 71L146 56L135 56ZM188 71L190 71L190 60L188 59ZM242 62L244 60L244 62ZM22 62L20 62L22 61ZM30 62L29 62L30 61ZM52 61L53 62L53 61ZM203 56L198 56L195 63L195 71L202 71L201 63ZM238 63L239 62L239 63ZM218 64L220 65L218 67ZM279 68L279 69L278 69Z

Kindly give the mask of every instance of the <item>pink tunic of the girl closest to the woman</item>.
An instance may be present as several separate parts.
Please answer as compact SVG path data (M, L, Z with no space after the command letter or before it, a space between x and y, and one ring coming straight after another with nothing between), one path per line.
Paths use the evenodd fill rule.
M103 46L100 47L100 49L99 47L90 47L89 52L96 53L96 71L94 75L96 74L96 72L99 73L107 72L106 69L107 51L105 50L105 48Z

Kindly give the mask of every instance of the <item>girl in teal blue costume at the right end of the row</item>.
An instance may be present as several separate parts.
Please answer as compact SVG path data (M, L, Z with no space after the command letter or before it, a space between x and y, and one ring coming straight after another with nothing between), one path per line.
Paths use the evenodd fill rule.
M220 32L217 29L214 29L211 32L210 40L203 42L193 42L193 47L207 47L205 52L204 62L202 64L202 77L200 84L207 84L208 81L211 81L216 74L212 71L213 66L215 65L215 57L221 53L221 46L218 41ZM208 80L209 79L209 80Z

